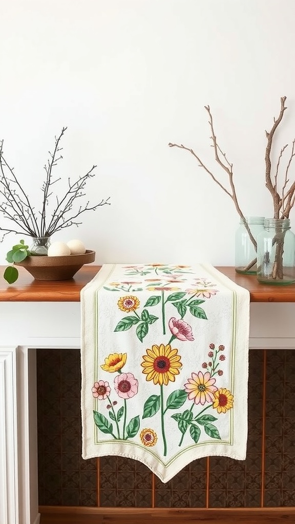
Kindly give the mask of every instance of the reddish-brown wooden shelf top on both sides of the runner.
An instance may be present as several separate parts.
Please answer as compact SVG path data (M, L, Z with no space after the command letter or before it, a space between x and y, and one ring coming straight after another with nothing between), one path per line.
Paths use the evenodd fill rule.
M19 278L9 285L3 279L5 266L0 266L0 302L80 302L80 291L97 274L101 266L83 266L71 280L34 280L22 267ZM250 292L251 302L295 302L295 284L267 286L255 275L241 275L234 267L217 266L219 271Z

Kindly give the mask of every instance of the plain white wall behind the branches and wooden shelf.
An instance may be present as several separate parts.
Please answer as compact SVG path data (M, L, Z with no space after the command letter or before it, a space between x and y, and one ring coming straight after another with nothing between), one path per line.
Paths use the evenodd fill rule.
M0 7L6 159L38 207L48 150L68 126L57 176L77 178L95 163L87 197L111 197L111 206L54 239L81 238L97 264L234 265L233 203L191 155L167 144L193 147L226 183L210 147L209 104L241 208L272 215L265 129L286 95L275 149L295 137L294 1L0 0ZM0 244L0 264L19 238Z

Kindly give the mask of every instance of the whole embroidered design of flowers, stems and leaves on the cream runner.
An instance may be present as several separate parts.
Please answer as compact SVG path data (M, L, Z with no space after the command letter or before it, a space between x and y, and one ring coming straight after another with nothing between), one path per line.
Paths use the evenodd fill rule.
M181 434L179 446L182 445L184 438L192 439L197 443L202 433L205 442L208 442L208 439L221 440L218 420L220 417L225 417L225 413L234 406L234 395L230 389L223 387L228 385L225 381L228 378L225 379L225 377L228 375L226 370L230 366L229 357L225 354L223 344L208 341L210 342L207 352L208 359L207 362L203 362L204 348L202 347L203 352L200 358L197 345L199 344L197 324L192 322L196 319L198 319L197 322L202 323L207 321L206 312L209 311L208 308L206 309L207 300L213 301L219 292L216 284L206 278L194 278L191 266L164 264L125 266L124 277L120 281L116 281L115 278L114 281L108 283L108 287L104 286L104 289L120 293L119 300L115 298L114 304L117 304L119 310L127 315L122 315L117 320L114 332L125 332L132 329L134 336L142 343L144 337L152 333L153 324L157 323L157 332L162 331L163 339L161 344L150 343L141 361L137 362L137 364L140 363L142 374L146 379L146 386L143 386L144 391L145 388L146 391L155 388L155 392L153 394L150 392L149 397L144 401L141 416L135 414L131 419L128 417L128 410L131 409L132 412L138 402L138 398L135 401L132 398L138 395L139 380L131 373L134 369L123 372L122 368L127 364L127 353L110 353L104 358L101 369L115 376L112 388L109 382L104 380L94 382L92 387L93 403L96 409L102 406L99 401L108 399L108 402L102 406L102 412L93 411L97 428L116 440L129 440L137 435L135 442L147 447L159 444L159 440L160 443L162 440L163 456L167 455L169 441L171 442L171 435L169 435L170 439L166 439L165 434L167 417L171 417L177 423ZM186 283L182 285L182 282ZM187 286L187 289L184 286ZM149 293L149 296L145 298L145 303L144 299L140 301L136 297L136 292L142 290L155 291ZM152 314L153 312L155 314ZM160 322L161 325L159 325ZM194 326L194 333L192 326ZM125 340L123 347L128 349L128 337L125 339L122 337L121 340ZM183 364L181 355L178 354L179 349L172 345L173 340L177 340L180 347L181 343L185 342L185 347L188 346L194 351L197 365L195 369L197 370L185 367L188 374L191 373L188 378L178 377ZM194 340L197 342L189 347L189 342ZM139 358L140 355L141 353ZM202 370L198 370L200 368ZM225 369L225 374L222 368ZM165 386L175 383L176 379L182 389L167 393L171 389ZM111 400L111 391L112 396L117 396L117 400L113 398ZM179 411L178 408L182 406L184 406L182 412L175 412ZM171 410L173 410L172 414ZM103 412L106 416L103 415ZM157 430L157 433L149 427L150 422L145 422L148 427L142 425L144 419L154 416L159 417L156 428L160 430ZM216 425L215 421L217 421ZM221 424L220 427L223 428L223 425Z

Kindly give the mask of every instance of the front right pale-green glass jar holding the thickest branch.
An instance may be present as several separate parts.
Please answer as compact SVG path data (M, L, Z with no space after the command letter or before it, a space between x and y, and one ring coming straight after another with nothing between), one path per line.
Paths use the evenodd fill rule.
M295 282L295 235L289 219L265 219L257 238L257 279L280 286Z

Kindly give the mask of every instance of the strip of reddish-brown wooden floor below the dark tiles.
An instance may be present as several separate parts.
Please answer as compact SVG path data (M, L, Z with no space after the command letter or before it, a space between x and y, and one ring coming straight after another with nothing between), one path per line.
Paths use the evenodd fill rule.
M125 508L101 511L100 514L46 512L40 508L40 524L288 524L295 522L294 508L270 510L150 510L128 511ZM57 510L56 510L57 511Z

